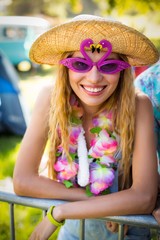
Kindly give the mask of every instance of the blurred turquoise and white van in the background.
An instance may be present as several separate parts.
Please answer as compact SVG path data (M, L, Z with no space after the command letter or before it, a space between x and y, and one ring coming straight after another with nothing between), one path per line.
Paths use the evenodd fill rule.
M30 70L31 44L49 27L50 23L43 18L0 16L0 49L18 70Z

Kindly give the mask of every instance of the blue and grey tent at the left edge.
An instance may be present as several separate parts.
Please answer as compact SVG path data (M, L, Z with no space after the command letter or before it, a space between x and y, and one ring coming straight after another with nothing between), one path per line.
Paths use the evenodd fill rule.
M0 51L0 135L23 136L29 119L18 87L19 75L7 56Z

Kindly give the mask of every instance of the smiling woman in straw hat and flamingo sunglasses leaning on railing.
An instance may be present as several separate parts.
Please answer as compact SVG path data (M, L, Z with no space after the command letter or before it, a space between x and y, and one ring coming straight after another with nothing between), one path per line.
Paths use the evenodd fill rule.
M64 225L58 239L76 240L75 219L151 213L157 195L152 105L135 93L131 66L156 62L154 45L119 22L80 15L40 36L30 58L58 64L59 71L36 102L15 166L15 192L70 201L51 207L30 239L48 239ZM48 140L45 178L38 169ZM86 222L87 240L117 239L102 221ZM149 230L129 227L131 237L150 239Z

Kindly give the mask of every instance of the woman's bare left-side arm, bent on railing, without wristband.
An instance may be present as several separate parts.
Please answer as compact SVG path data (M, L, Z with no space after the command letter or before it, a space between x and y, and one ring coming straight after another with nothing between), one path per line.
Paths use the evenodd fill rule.
M67 189L63 184L40 176L38 173L48 137L50 97L51 87L47 87L40 93L36 101L32 119L23 138L14 169L15 193L22 196L71 201L87 199L83 189Z

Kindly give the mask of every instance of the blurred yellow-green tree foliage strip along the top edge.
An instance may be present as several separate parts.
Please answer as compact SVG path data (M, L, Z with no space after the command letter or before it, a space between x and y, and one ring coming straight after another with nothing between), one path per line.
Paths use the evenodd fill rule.
M51 17L113 12L136 15L160 10L160 0L12 0L3 4L6 4L7 15L44 14Z

